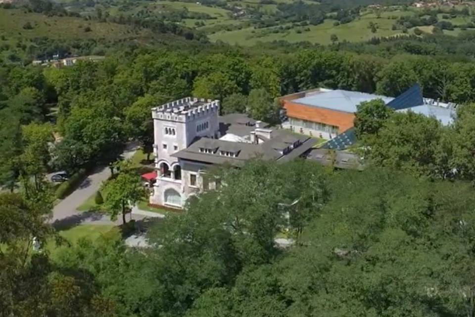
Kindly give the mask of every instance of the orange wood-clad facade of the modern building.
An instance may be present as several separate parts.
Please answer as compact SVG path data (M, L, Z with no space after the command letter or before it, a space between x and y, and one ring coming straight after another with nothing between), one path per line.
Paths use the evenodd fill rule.
M281 100L281 103L286 109L287 117L337 126L339 133L353 126L353 113L295 104L291 100Z

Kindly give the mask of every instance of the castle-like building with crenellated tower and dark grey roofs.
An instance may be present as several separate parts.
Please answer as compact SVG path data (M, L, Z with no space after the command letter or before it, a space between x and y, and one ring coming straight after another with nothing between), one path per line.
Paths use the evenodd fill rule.
M182 208L190 195L219 184L206 177L214 165L241 166L246 160L285 161L302 156L316 143L308 136L244 114L219 116L219 101L187 97L152 108L157 177L149 202Z

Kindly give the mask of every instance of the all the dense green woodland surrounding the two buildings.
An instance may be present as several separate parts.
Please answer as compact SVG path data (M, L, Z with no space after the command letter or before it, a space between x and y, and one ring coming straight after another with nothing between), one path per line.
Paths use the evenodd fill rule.
M344 19L368 4L309 2L288 5L340 5ZM71 14L48 3L24 8ZM16 48L25 59L0 61L0 317L474 316L474 33L241 48L167 19L159 18L165 29L140 26L169 36L160 43L42 38ZM107 50L98 62L27 63L45 50L99 46ZM350 151L364 171L310 160L222 166L210 175L225 185L154 224L142 249L125 246L126 224L72 243L49 223L74 185L53 188L49 172L76 182L110 167L104 187L114 195L95 199L112 217L144 196L118 158L131 140L152 153L151 107L216 98L222 114L278 125L275 100L285 94L326 87L397 96L415 83L425 97L457 103L457 119L443 126L379 100L360 105ZM294 245L278 247L276 237Z

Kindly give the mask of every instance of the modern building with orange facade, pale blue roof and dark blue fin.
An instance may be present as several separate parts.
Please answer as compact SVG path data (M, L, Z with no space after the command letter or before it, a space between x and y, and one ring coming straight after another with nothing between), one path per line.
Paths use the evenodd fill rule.
M287 95L280 99L288 118L283 126L294 132L333 139L353 127L358 105L375 99L382 100L395 111L411 110L435 117L444 125L451 124L456 115L455 104L424 99L419 84L396 98L320 88Z

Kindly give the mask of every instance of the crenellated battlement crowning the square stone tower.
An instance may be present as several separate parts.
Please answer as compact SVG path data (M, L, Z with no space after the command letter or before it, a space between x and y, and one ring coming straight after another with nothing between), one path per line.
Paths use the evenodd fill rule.
M219 112L219 100L186 97L152 108L154 119L190 122Z

